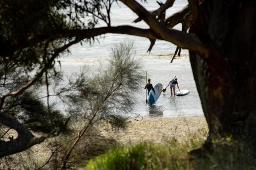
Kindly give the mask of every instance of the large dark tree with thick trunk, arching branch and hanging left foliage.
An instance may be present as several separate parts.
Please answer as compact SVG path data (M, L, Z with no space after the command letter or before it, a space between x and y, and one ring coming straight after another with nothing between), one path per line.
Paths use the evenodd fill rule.
M18 133L14 140L0 140L0 155L26 150L65 131L63 127L69 118L54 110L49 102L44 106L35 101L38 96L31 90L35 90L36 85L45 85L49 91L49 82L60 77L55 69L58 57L69 52L73 44L90 43L96 36L106 33L148 38L151 41L148 51L152 50L156 39L176 44L175 55L181 48L188 49L210 136L256 134L255 2L188 0L187 6L166 17L165 11L174 2L157 2L158 9L147 11L135 0L0 1L0 123ZM138 15L134 22L144 20L150 28L113 27L110 13L114 3L125 4ZM105 26L98 27L99 21ZM173 29L178 23L182 23L181 31ZM111 64L115 66L115 60ZM127 69L132 71L135 67ZM81 88L91 88L84 80L81 76L75 82ZM248 90L243 92L241 88ZM62 90L58 94L67 91ZM90 95L84 94L82 98L98 95L93 89L79 92L87 90ZM72 101L79 105L77 99ZM35 111L35 107L42 110ZM41 119L35 121L39 115ZM49 124L54 127L50 131L46 128ZM30 129L47 134L35 138ZM20 144L26 147L14 149L17 141L22 141ZM8 150L3 149L4 146Z

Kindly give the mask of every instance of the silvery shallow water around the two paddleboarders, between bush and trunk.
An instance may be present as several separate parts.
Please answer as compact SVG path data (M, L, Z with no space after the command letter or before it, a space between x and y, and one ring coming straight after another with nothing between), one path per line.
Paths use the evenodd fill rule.
M143 63L144 72L151 78L152 84L162 83L166 88L175 76L178 78L180 89L189 90L185 96L170 96L170 88L161 93L155 107L145 103L145 90L142 88L137 96L134 113L148 116L199 116L203 115L196 84L191 71L188 57L182 57L169 64L169 59L151 59ZM146 83L146 80L145 80ZM176 87L176 91L178 88Z

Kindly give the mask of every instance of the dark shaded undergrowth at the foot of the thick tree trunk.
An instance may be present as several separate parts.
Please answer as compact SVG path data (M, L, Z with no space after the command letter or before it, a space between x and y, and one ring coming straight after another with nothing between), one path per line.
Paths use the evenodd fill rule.
M195 169L255 169L255 147L246 139L232 139L227 136L222 139L212 139L210 148L194 151Z

